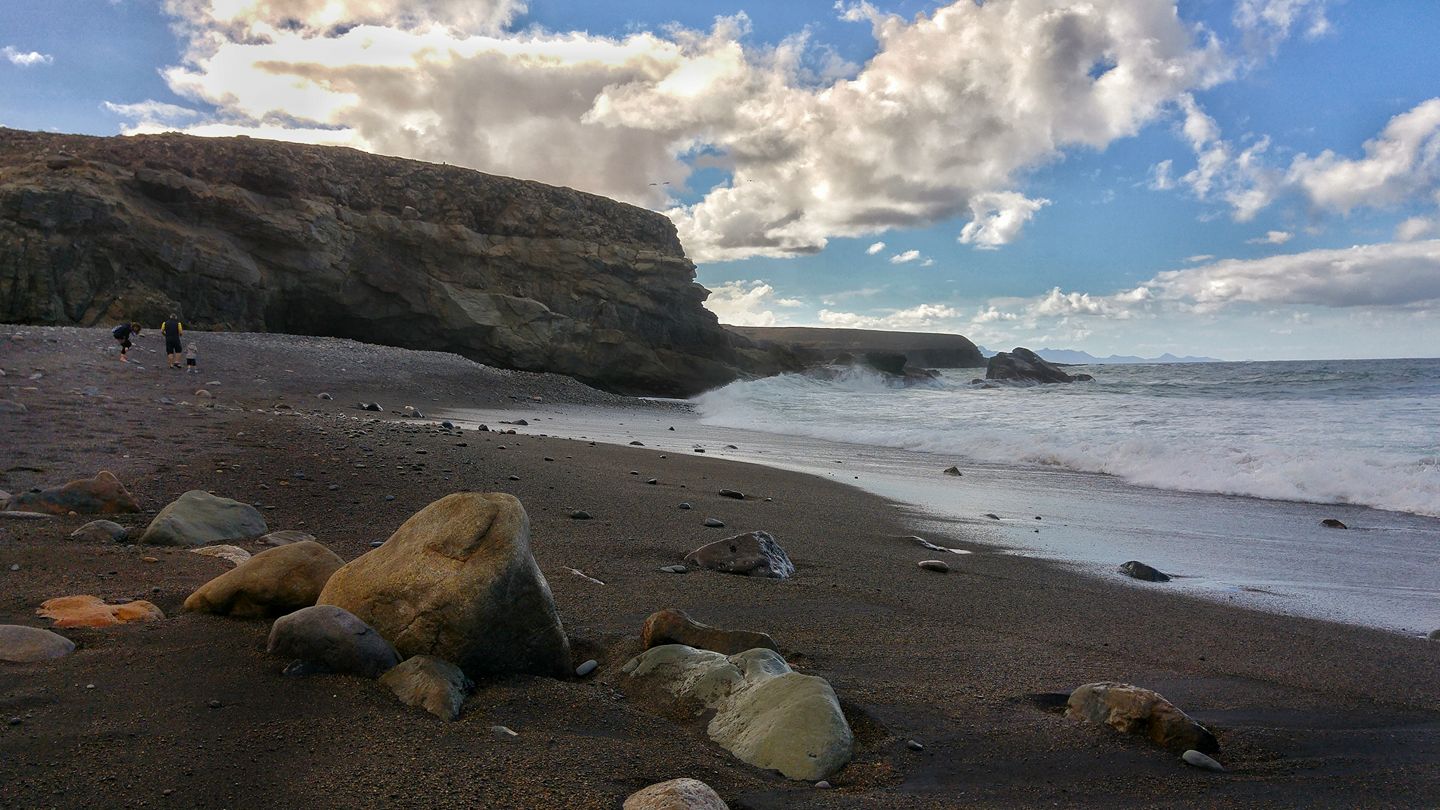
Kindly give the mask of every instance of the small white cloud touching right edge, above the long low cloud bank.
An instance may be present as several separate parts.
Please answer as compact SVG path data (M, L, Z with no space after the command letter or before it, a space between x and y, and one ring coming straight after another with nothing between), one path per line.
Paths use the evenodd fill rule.
M1395 115L1364 148L1365 157L1358 160L1331 150L1297 156L1287 180L1303 189L1315 206L1341 213L1433 195L1440 187L1440 98Z

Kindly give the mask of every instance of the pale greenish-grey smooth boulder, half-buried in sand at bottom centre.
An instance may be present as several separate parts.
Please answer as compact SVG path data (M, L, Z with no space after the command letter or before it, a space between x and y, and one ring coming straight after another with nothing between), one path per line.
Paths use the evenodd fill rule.
M721 656L683 644L654 647L624 670L641 689L680 708L714 709L706 734L757 768L816 781L850 761L854 735L835 690L801 675L773 650Z

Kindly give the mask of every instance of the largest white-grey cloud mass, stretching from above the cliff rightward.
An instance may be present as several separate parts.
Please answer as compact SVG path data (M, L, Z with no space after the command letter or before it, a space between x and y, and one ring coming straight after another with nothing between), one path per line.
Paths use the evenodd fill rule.
M1158 0L953 0L914 19L848 6L877 39L860 68L827 68L805 33L747 46L743 14L600 37L508 30L524 6L505 0L167 7L190 48L166 78L217 108L196 131L292 130L668 208L698 261L965 210L963 241L1002 245L1044 205L1007 190L1025 172L1133 135L1231 69ZM732 180L674 205L664 182L681 187L700 150Z

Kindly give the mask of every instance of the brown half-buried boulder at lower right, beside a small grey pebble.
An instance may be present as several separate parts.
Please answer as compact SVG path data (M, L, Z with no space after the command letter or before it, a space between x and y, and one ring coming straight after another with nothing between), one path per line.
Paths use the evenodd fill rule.
M1210 729L1156 692L1129 683L1086 683L1070 693L1066 716L1107 725L1122 734L1136 734L1171 751L1220 751Z

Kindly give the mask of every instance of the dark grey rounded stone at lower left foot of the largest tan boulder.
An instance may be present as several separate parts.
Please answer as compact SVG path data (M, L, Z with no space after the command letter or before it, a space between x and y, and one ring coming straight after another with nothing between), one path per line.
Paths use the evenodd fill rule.
M288 672L379 677L400 663L395 647L373 627L336 605L311 605L276 618L265 651L304 664Z

